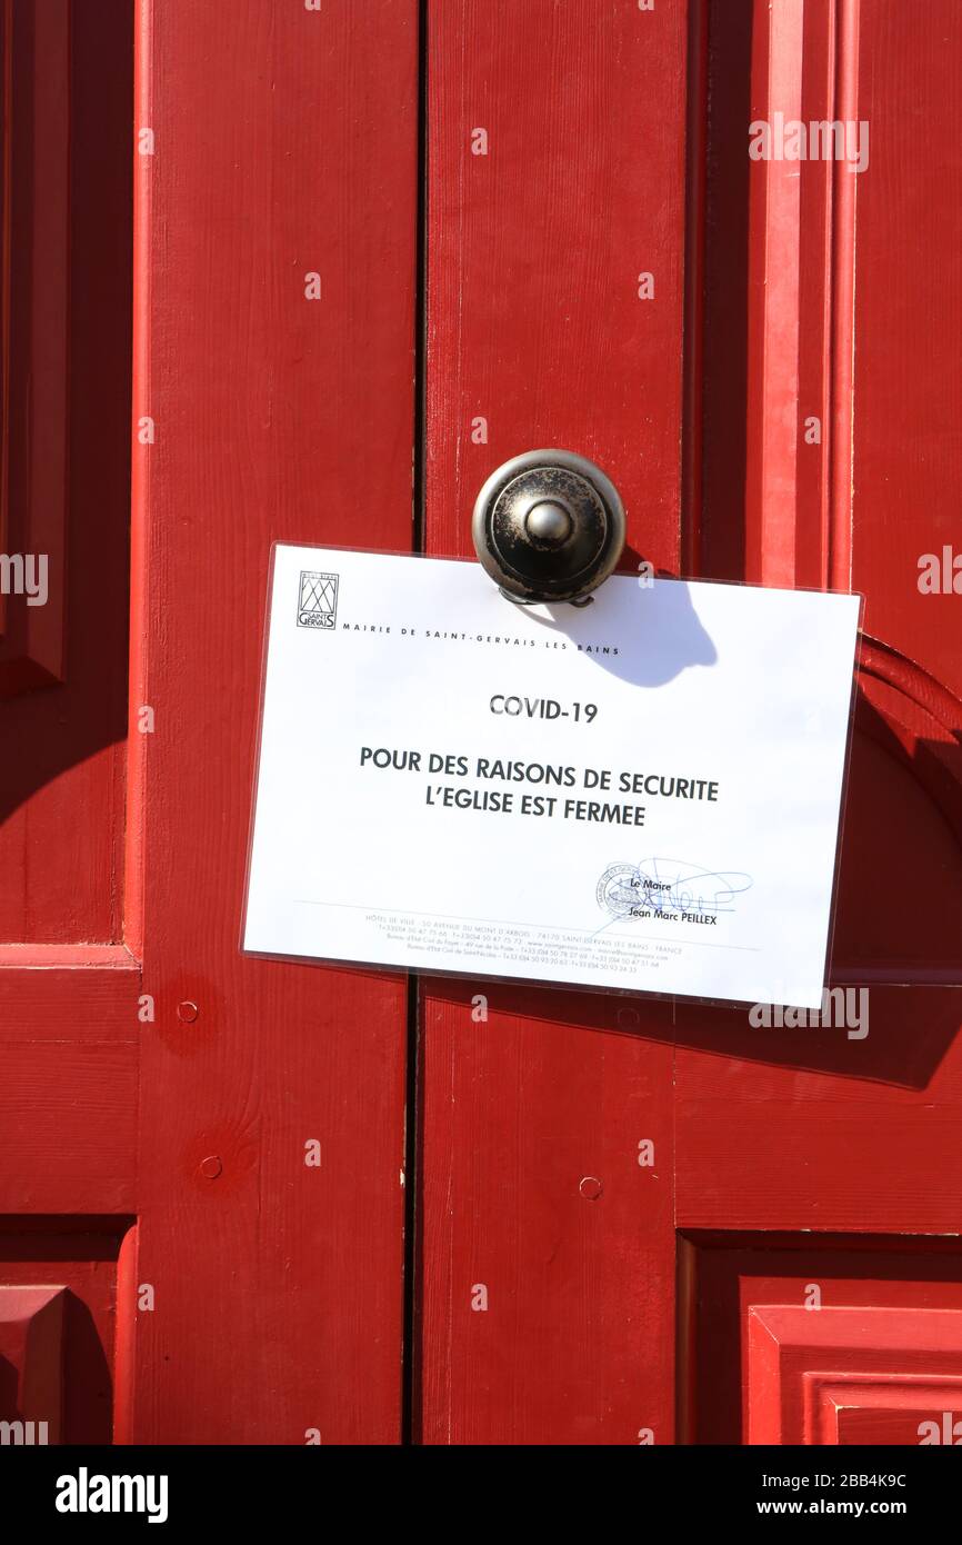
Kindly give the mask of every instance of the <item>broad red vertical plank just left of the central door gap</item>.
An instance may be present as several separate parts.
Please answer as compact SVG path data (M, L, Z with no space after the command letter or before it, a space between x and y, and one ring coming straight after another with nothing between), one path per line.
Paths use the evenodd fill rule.
M417 43L415 0L139 6L137 1441L400 1434L405 981L238 941L270 542L411 541Z

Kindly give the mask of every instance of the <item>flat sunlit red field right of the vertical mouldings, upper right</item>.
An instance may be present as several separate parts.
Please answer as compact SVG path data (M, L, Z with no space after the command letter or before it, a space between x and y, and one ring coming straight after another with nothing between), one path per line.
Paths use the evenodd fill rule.
M860 34L859 113L872 141L859 187L852 581L868 632L954 694L957 728L962 579L925 593L919 559L945 545L962 555L962 368L950 341L962 331L962 11L862 0ZM945 857L962 884L957 851Z

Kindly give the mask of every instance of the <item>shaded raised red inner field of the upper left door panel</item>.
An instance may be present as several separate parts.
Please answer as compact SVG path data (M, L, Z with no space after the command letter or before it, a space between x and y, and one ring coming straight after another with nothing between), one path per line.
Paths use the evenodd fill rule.
M3 698L63 678L71 128L68 0L45 0L40 6L3 0L0 48L5 125L0 552L28 565L22 575L11 570L9 579L5 573L0 586ZM8 590L11 582L15 589Z

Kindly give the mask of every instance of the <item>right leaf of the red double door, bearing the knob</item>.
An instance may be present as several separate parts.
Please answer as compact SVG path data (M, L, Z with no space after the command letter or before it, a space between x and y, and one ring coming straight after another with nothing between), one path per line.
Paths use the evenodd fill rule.
M962 1417L962 576L919 584L962 530L962 12L434 0L428 36L428 548L564 445L628 567L865 593L831 981L868 1034L423 983L423 1440L917 1443ZM866 122L868 165L750 159L777 113Z

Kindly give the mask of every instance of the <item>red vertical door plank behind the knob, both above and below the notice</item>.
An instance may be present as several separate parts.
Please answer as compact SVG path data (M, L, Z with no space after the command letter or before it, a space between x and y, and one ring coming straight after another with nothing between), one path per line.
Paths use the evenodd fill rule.
M488 473L561 447L618 485L625 567L678 565L686 14L428 8L429 552L471 552ZM670 1441L672 1054L645 1038L670 1037L670 1006L619 1012L602 995L425 984L426 1443Z

